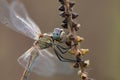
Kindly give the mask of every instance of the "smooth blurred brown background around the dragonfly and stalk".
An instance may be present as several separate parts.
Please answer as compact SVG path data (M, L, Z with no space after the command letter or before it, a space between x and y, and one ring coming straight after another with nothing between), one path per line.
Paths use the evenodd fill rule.
M83 48L89 48L89 74L95 80L120 80L120 1L75 0L74 11L80 16L85 38ZM23 0L31 18L43 32L61 24L58 0ZM23 68L17 58L31 47L33 40L0 24L0 80L19 80ZM78 80L77 76L45 78L32 74L30 80Z

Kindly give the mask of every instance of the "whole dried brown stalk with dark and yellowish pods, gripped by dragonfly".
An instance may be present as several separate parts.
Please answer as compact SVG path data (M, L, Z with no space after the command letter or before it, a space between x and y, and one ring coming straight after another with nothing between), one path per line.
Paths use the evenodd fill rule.
M74 44L73 50L74 55L76 56L76 63L74 64L74 68L80 68L78 74L82 80L91 80L88 78L86 67L89 65L89 60L82 60L82 56L88 52L88 49L79 49L79 40L80 42L83 40L80 36L76 35L76 31L79 29L80 24L76 24L73 21L73 18L76 18L78 15L72 12L72 7L75 4L70 0L59 0L62 6L59 8L60 11L63 11L61 14L62 17L65 18L62 24L63 28L69 29L69 40L72 44Z

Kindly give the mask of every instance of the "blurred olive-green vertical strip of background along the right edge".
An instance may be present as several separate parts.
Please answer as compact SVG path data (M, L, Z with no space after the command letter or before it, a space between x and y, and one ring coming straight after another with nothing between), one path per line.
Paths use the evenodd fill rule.
M112 36L112 45L110 49L111 55L111 71L113 73L114 80L120 79L120 1L112 1L112 17L113 17L113 33ZM109 44L110 46L110 44Z

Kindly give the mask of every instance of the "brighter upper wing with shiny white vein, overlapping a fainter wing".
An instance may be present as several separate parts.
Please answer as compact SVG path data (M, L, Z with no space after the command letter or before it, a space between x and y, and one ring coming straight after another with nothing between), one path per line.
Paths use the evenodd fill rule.
M41 34L38 26L28 16L24 5L19 0L13 0L10 6L10 16L14 26L10 27L26 36L38 39L38 34Z

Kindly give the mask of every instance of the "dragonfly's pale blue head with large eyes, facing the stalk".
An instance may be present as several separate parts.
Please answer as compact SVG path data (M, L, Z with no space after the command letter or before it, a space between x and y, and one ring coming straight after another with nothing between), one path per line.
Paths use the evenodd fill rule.
M53 31L53 40L59 40L62 38L62 35L63 35L64 31L63 29L60 29L60 28L55 28L54 31Z

